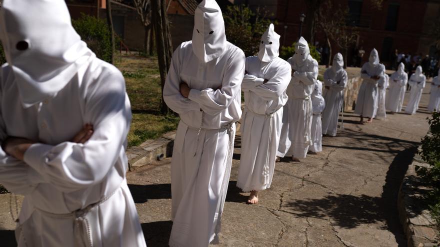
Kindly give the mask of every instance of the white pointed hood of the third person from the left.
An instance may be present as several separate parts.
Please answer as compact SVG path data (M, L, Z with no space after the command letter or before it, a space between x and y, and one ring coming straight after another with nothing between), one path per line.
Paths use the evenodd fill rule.
M279 37L270 23L259 43L258 58L261 62L270 62L279 55Z

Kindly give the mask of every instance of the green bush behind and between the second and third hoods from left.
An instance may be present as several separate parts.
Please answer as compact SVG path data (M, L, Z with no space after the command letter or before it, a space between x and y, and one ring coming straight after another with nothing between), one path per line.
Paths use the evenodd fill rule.
M259 8L254 12L245 5L227 6L223 14L227 40L240 47L246 57L256 55L261 35L270 24L266 16Z

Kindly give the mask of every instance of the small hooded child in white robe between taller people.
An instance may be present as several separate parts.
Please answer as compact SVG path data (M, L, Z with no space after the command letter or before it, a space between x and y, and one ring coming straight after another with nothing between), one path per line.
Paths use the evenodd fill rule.
M313 144L309 150L313 153L322 151L322 121L321 112L325 108L325 100L322 97L322 82L316 80L313 92L311 93L311 105L313 117L311 119L311 141Z

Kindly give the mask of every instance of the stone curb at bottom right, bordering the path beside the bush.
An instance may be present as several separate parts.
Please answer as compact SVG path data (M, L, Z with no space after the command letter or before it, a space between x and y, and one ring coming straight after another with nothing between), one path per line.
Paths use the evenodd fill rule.
M429 188L421 185L418 180L415 173L417 166L426 167L428 164L424 163L420 156L415 155L409 165L397 198L399 220L406 235L408 247L434 247L438 245L435 239L439 236L439 232L426 209L426 203L423 202L423 192L428 191Z

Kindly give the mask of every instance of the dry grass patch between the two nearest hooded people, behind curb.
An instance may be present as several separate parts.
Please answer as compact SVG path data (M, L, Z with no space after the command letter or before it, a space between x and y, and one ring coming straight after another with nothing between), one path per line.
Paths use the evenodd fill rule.
M174 130L178 117L160 114L160 76L157 58L118 55L115 66L125 77L133 120L128 133L128 146L137 146Z

